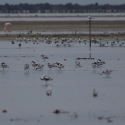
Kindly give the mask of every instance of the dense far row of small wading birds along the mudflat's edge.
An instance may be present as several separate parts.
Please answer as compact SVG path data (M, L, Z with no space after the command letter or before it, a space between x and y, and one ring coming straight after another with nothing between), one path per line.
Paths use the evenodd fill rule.
M119 40L118 38L114 39L113 41L104 41L101 38L96 39L92 38L91 39L92 43L97 44L100 47L105 47L105 46L111 46L111 47L122 47L125 44L125 39L124 40ZM83 38L67 38L67 37L45 37L45 38L21 38L18 37L14 40L11 41L12 44L15 44L15 42L19 42L18 46L21 48L22 42L28 43L32 42L33 44L39 44L40 42L46 42L47 44L54 43L56 47L71 47L72 43L84 43L86 44L89 42L89 39L83 39Z

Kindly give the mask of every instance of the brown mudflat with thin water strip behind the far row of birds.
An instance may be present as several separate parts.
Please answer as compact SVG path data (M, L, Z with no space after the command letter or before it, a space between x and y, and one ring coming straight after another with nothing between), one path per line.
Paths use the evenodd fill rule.
M6 22L0 22L0 30L3 31L4 24ZM28 32L33 30L34 35L38 33L42 36L84 36L89 35L89 22L88 21L11 21L12 32ZM51 32L51 34L47 34ZM58 34L60 32L60 34ZM63 32L63 33L61 33ZM125 35L125 21L91 21L91 32L92 37L114 37L114 36L124 36ZM1 38L7 33L0 34ZM8 37L15 37L16 34L9 33ZM16 35L17 36L17 35ZM27 34L25 34L25 37ZM34 36L35 37L35 36Z

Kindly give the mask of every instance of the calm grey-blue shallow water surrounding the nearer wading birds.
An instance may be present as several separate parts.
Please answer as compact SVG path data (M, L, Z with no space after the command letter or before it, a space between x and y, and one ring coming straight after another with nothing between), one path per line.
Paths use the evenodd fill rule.
M125 47L99 47L92 44L73 42L71 47L56 47L54 43L44 42L14 45L9 41L0 42L0 62L8 64L4 71L0 68L0 123L13 124L125 124ZM49 57L44 61L41 55ZM75 67L76 58L82 67ZM93 69L91 64L98 58L106 64ZM66 59L66 61L64 60ZM42 71L36 71L31 61L44 64ZM47 63L60 62L64 69L49 69ZM29 73L24 71L24 64L30 64ZM114 70L109 78L99 75L103 70ZM46 96L46 83L40 80L42 75L53 78L52 96ZM93 87L98 97L92 96ZM6 109L7 113L2 110ZM66 113L54 114L55 109ZM77 113L78 117L74 116ZM102 117L99 120L98 117Z

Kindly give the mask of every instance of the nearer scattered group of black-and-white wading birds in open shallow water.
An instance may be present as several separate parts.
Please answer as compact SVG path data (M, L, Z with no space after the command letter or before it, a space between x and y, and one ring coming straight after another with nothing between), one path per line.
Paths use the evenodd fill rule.
M81 64L80 64L80 62L77 59L75 59L74 61L75 61L75 66L82 67ZM92 63L92 67L95 69L96 67L99 67L99 66L101 66L103 64L105 64L105 62L102 61L101 59L98 59L97 61L95 61L94 63ZM43 67L44 67L44 65L37 64L35 61L32 61L31 65L36 70L42 70ZM61 64L61 63L58 63L58 62L48 63L47 65L50 68L50 70L51 70L51 68L55 68L55 67L58 67L59 69L60 68L64 68L64 65ZM2 67L3 70L4 70L4 68L9 68L9 66L5 62L2 62L1 65L0 65L0 67ZM24 65L24 71L29 72L29 69L30 69L30 65L29 64L25 64ZM105 74L106 77L109 77L109 75L111 74L112 71L113 70L106 69L105 71L102 71L102 73L98 73L98 74L100 74L100 75ZM52 88L51 88L50 84L47 84L47 82L53 80L53 78L51 78L50 76L47 76L47 75L42 75L40 77L40 80L46 82L46 86L48 86L48 88L46 90L46 95L47 96L51 96L52 95ZM93 94L93 97L97 97L98 96L98 93L96 92L95 88L93 88L93 93L92 94Z

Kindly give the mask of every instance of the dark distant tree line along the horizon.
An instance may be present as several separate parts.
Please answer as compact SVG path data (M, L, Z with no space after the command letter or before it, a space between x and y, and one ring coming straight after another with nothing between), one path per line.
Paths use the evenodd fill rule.
M44 13L44 12L125 12L125 4L122 5L99 5L98 3L89 5L79 5L79 4L18 4L18 5L0 5L1 13Z

